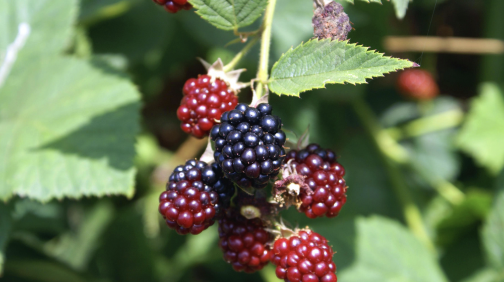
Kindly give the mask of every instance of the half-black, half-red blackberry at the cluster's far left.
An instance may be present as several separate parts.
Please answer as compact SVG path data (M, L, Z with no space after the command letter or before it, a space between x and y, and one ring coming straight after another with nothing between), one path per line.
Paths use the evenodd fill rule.
M200 234L229 206L233 194L234 186L218 164L190 160L170 175L159 196L159 213L178 234Z

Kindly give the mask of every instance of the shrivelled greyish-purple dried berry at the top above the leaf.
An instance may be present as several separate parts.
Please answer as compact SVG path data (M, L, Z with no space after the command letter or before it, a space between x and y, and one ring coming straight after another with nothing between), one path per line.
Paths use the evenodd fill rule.
M311 19L313 35L316 38L346 40L352 30L348 15L343 12L341 4L331 1L325 7L318 7Z

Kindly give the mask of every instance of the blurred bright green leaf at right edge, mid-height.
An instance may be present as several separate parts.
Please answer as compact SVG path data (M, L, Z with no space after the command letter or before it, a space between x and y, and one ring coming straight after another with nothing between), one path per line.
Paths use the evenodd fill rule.
M496 175L504 166L504 94L494 83L481 85L471 104L457 145Z

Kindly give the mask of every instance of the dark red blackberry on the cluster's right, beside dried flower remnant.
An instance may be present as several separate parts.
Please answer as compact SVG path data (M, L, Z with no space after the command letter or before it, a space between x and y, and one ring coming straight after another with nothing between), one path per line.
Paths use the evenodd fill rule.
M304 183L313 191L309 194L301 191L299 194L300 212L310 219L336 217L346 202L347 186L343 179L345 169L336 161L334 152L310 144L306 149L290 151L286 162L306 177Z

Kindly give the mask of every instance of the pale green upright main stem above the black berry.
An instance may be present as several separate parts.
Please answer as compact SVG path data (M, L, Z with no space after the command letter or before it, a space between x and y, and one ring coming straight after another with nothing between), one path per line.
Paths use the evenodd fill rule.
M277 0L270 0L266 7L266 13L263 21L263 35L261 39L261 53L259 55L259 69L257 73L258 84L256 87L256 96L261 98L263 96L264 86L268 81L268 68L270 58L270 45L271 45L271 27L273 23L273 15L275 14L275 7Z

